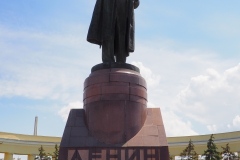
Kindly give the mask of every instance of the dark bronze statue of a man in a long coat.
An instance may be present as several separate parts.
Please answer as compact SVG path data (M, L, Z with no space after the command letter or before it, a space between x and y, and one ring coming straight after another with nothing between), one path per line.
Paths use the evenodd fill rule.
M125 63L134 52L134 9L139 0L97 0L87 41L102 46L104 63Z

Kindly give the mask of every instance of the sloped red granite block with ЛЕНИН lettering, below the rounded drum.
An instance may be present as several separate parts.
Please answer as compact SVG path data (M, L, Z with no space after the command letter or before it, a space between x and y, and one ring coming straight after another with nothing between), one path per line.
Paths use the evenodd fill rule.
M86 126L85 111L72 109L60 144L59 160L168 160L168 144L159 108L148 108L141 130L121 144L106 144Z

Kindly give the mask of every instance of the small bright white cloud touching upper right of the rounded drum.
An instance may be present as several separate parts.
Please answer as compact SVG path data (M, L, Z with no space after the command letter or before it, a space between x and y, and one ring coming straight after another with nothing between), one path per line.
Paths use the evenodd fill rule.
M144 66L142 62L132 62L131 64L137 66L140 69L140 73L146 80L149 87L155 87L159 85L160 76L153 73L150 68Z

